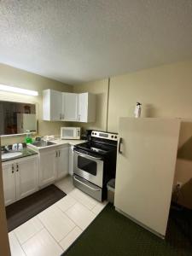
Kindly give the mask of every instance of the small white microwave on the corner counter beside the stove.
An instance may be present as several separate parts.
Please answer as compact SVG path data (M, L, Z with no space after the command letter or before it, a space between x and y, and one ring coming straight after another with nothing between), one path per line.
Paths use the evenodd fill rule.
M61 127L61 140L79 140L80 127Z

